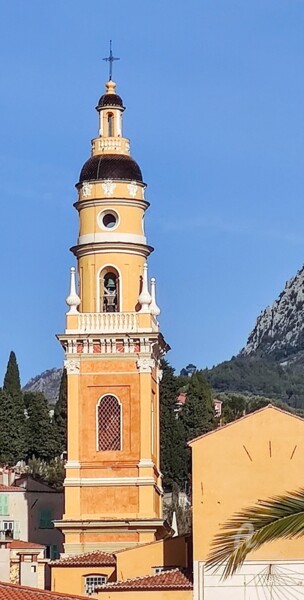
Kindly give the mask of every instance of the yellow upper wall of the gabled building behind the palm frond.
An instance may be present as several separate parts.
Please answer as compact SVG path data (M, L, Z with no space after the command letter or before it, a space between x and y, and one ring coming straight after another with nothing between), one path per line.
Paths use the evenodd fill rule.
M258 499L303 487L304 421L273 407L192 442L194 560L220 524ZM262 546L249 559L303 558L303 539Z

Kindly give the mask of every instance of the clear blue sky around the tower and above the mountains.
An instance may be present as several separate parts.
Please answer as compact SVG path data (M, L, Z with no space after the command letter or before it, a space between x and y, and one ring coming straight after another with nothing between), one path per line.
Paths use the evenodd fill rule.
M60 366L74 184L113 39L168 355L236 354L303 264L301 0L0 0L0 372Z

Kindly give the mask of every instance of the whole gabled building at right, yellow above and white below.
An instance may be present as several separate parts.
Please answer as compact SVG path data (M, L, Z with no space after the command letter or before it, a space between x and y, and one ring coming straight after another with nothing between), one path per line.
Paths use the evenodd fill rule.
M233 514L303 485L304 420L269 405L190 446L194 600L303 597L303 537L264 544L226 580L223 569L214 573L205 563L214 536ZM250 523L246 527L250 531Z

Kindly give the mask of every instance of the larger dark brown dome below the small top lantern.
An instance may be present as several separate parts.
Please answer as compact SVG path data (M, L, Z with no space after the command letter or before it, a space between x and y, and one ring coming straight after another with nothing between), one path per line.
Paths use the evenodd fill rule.
M124 154L102 154L89 158L81 169L79 183L96 179L143 180L138 164Z

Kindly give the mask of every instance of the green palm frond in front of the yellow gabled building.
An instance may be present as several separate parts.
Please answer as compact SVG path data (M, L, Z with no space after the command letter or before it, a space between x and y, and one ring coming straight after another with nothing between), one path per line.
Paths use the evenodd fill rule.
M223 579L233 575L249 552L278 539L304 535L304 489L259 500L231 517L214 537L207 568L224 567Z

